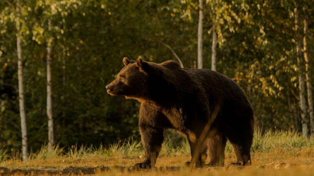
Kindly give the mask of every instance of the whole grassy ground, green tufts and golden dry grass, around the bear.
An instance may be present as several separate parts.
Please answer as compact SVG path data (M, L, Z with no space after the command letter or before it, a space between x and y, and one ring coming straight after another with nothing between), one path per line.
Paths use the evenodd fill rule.
M133 164L141 162L143 150L140 142L130 139L110 148L72 146L30 154L27 162L8 158L0 149L0 175L314 175L314 140L292 132L257 131L252 145L252 166L233 167L235 153L228 143L225 167L188 170L184 163L191 159L189 147L179 147L166 140L157 159L155 170L135 171Z

